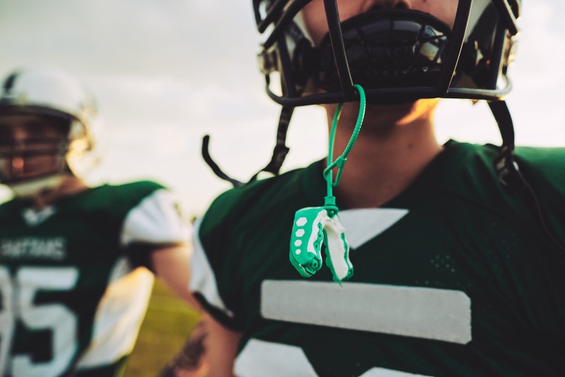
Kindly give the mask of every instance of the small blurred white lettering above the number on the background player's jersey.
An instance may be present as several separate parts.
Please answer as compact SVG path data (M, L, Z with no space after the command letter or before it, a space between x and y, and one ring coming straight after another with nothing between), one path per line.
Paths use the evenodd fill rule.
M66 240L62 237L23 237L0 241L0 258L64 260Z

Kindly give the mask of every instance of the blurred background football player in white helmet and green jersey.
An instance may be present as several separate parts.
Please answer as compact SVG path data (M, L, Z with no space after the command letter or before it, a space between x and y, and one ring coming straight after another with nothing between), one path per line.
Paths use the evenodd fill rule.
M0 375L120 376L150 270L192 299L187 228L155 182L81 180L97 118L76 79L22 69L0 90L0 182L14 195L0 205Z

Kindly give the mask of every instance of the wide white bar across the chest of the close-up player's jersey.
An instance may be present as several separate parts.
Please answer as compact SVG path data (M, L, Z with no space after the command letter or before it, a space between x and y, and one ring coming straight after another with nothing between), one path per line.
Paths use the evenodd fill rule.
M471 300L463 291L366 283L266 280L264 318L381 332L389 335L471 341Z

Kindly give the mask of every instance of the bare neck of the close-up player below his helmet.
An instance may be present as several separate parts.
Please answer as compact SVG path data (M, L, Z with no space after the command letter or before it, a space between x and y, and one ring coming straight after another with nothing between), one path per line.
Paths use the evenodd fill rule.
M346 115L340 124L355 124L356 117ZM375 121L366 117L336 190L350 208L380 207L393 199L443 150L435 139L432 112L401 125ZM345 149L351 132L352 127L338 127L334 156Z

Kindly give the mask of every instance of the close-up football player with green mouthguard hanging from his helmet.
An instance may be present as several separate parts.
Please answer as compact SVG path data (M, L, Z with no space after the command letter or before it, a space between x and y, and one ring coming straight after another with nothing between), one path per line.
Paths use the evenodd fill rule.
M347 160L251 181L199 222L191 286L215 319L207 339L222 359L211 375L564 375L565 149L515 151L504 103L520 1L253 6L267 92L283 106L265 170L278 172L296 106L321 104L331 121L345 103L336 154L362 118L363 92L367 109ZM489 101L503 146L438 144L439 98ZM339 184L324 179L328 165L337 180L343 170ZM303 243L304 207L333 213ZM345 259L319 221L335 216L353 267L341 284ZM326 237L331 268L297 262Z

